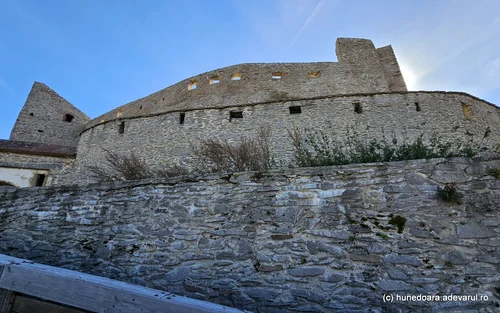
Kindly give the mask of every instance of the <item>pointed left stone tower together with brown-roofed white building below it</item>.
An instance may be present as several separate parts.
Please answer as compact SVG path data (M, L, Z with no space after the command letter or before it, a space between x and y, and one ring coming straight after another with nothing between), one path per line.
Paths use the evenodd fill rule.
M0 140L0 187L50 184L76 158L90 119L46 85L35 82L10 140Z

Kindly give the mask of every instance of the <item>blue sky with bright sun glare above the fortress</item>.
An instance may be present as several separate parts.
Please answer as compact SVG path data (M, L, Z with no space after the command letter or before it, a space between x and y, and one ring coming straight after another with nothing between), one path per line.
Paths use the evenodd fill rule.
M500 105L497 0L0 0L0 138L35 80L94 118L224 66L336 61L337 37L391 44L410 90Z

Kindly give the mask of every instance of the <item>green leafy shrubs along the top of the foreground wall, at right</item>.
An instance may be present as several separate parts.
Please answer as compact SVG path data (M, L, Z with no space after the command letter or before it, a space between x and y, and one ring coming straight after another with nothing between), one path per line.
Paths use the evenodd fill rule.
M327 127L328 128L328 127ZM474 142L469 132L467 143L444 142L434 133L429 144L424 143L423 134L414 140L398 142L393 136L388 141L383 135L381 140L360 139L359 134L350 127L347 129L346 141L337 138L333 131L306 128L303 131L294 127L288 130L294 147L295 165L297 166L328 166L353 163L404 161L413 159L473 157L479 151L484 151L484 139L490 130L486 129L482 140Z

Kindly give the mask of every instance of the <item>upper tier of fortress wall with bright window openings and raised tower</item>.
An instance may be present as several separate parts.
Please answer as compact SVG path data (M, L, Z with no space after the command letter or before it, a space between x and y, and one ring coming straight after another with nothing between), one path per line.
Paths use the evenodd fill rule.
M119 118L169 111L406 91L390 46L375 49L367 39L340 38L336 50L338 63L239 64L206 72L103 114L90 121L87 128Z

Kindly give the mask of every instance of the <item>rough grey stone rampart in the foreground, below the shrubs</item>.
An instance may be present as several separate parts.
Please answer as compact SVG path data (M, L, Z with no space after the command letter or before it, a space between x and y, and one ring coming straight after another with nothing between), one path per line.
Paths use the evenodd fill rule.
M256 312L494 312L499 167L433 159L4 191L0 253ZM436 199L450 182L460 205ZM396 298L408 295L477 298Z

